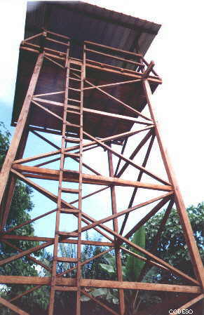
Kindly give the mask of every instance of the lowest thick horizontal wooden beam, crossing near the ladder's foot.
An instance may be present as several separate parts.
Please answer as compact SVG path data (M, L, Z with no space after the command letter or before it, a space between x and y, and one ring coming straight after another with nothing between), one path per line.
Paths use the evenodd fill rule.
M50 277L38 276L0 276L2 284L34 284L41 286L50 286ZM76 279L56 278L57 286L76 286ZM110 281L110 280L95 280L81 279L81 286L92 288L116 288L128 290L156 290L168 292L183 292L183 293L201 293L198 286L179 286L172 284L160 283L140 283L128 281Z

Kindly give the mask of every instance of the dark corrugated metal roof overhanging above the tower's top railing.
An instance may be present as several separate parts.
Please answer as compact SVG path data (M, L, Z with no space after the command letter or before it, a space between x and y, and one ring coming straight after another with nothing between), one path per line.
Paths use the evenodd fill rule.
M41 27L78 41L145 54L161 25L82 1L28 1L25 38Z

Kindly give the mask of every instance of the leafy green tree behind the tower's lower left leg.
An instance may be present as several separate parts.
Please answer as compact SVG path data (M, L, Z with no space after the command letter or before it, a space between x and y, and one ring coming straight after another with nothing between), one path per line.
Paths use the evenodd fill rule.
M6 152L9 147L9 138L11 134L5 128L4 123L0 122L0 168L4 163L4 159L6 156ZM30 220L30 211L34 208L34 204L32 203L32 189L24 185L19 180L16 182L15 192L13 195L13 200L11 203L11 210L8 215L8 220L6 222L5 230L11 229L22 222ZM34 236L34 227L32 224L27 224L20 229L16 229L11 232L14 235L27 235ZM27 250L28 248L32 248L37 246L38 242L30 242L30 241L10 241L13 246L20 248L21 250ZM0 243L0 254L1 259L5 259L6 257L11 257L18 253L18 250L8 246L3 242ZM40 253L35 253L35 257L40 255ZM1 275L13 275L13 276L37 276L38 272L36 270L36 264L29 260L27 257L22 257L21 259L14 260L11 263L5 264L0 268ZM20 293L28 290L31 286L22 286L22 285L11 285L11 286L3 286L1 287L0 295L5 297L7 300L19 295ZM24 297L16 300L14 302L18 304L22 309L30 309L31 306L34 308L34 302L32 299L32 295L25 295ZM1 314L13 314L11 310L1 309Z

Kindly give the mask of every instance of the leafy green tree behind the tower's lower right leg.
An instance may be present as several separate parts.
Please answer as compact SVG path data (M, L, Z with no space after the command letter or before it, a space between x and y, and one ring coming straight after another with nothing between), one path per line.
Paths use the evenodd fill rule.
M198 206L190 206L187 208L193 234L196 238L196 243L200 251L200 255L204 258L203 251L203 215L204 215L204 203L198 203ZM165 210L161 211L157 215L151 218L145 225L147 234L147 250L151 250L152 242L156 236L158 228ZM193 265L189 257L189 250L186 246L184 239L184 233L179 221L179 215L177 210L172 209L168 221L165 224L161 239L158 243L156 255L163 260L169 262L177 269L181 269L184 273L194 277ZM153 272L154 270L154 272ZM178 283L185 284L186 281L181 279L175 274L165 272L163 269L152 268L151 279L154 282L159 283Z

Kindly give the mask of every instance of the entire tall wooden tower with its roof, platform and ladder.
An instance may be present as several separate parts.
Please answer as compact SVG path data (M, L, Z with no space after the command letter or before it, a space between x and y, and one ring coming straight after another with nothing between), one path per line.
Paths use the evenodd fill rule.
M27 17L30 20L27 18L25 40L20 45L12 119L15 133L1 169L0 183L0 241L14 248L16 253L2 259L0 266L26 256L50 272L50 276L8 274L0 276L0 283L33 285L33 288L13 300L32 293L41 286L49 286L48 315L58 315L55 309L56 291L67 291L68 295L70 291L75 293L76 315L81 314L81 295L88 296L110 314L124 315L124 290L127 289L189 294L188 302L182 305L178 300L177 304L179 309L186 309L203 299L203 264L184 201L163 145L152 102L152 93L162 80L154 70L154 62L147 62L144 59L144 53L160 25L125 15L121 17L119 13L111 13L111 15L108 14L111 11L81 4L79 1L65 6L57 1L41 1L41 4L44 5L42 10L36 8L32 13L29 11ZM72 14L73 25L71 23L70 27L66 28L63 25L68 11ZM42 14L43 22L39 18ZM76 21L76 17L80 20ZM95 24L90 24L88 19L92 19ZM32 21L44 28L36 32L37 27L33 27ZM77 25L79 29L76 29ZM112 29L108 29L107 25ZM60 27L62 32L59 32ZM97 30L94 33L95 28ZM99 32L100 28L103 35ZM129 29L128 35L124 35L124 29ZM137 36L134 32L137 32ZM114 41L113 36L119 38L118 43L123 41L128 48L124 49L123 46L121 48L116 43L111 45L111 41ZM106 44L108 37L109 45ZM90 40L92 38L95 40ZM29 133L39 137L39 141L43 140L53 146L54 151L43 152L41 149L39 154L24 156L25 146L29 145L29 140L27 141ZM49 138L46 135L49 135ZM54 135L61 139L60 146L56 144ZM158 159L161 158L165 169L163 175L157 174L155 161L149 163L147 167L147 161L151 162L151 149L154 147L154 142L158 145L158 152L161 154ZM101 163L107 159L105 174L100 173L101 171L93 166L94 160L99 156L98 150L100 150ZM103 165L102 169L104 168ZM128 173L130 168L131 172ZM43 209L41 215L32 220L6 229L17 179L36 189L57 206L53 210ZM40 180L46 184L40 185ZM48 181L55 182L57 194L50 191ZM86 187L94 187L94 189L88 191ZM118 187L119 191L117 191ZM129 187L129 194L126 193L127 187ZM100 194L105 190L110 192L110 203L107 201L106 207L110 213L107 215L104 210L104 216L103 213L98 213L97 209L100 209L99 203L104 202ZM137 197L139 192L142 192L140 198ZM121 194L124 202L130 196L124 210L121 210L120 206ZM73 199L72 196L76 198ZM86 200L91 199L92 196L98 196L98 201L95 202L94 213L90 215L89 203ZM193 278L162 260L156 252L160 236L174 205L189 248L195 274ZM145 207L147 207L146 212L143 211ZM163 207L166 208L165 215L151 252L132 243L131 236ZM137 221L132 215L135 212L140 214ZM51 213L56 214L53 237L15 234L26 224L40 220ZM70 223L71 217L75 218L76 229ZM129 220L131 217L131 227L130 225L127 227L128 217ZM62 228L62 221L67 229ZM107 222L112 222L112 226ZM97 231L102 236L102 241L84 239L84 232L89 230ZM22 250L13 245L12 241L16 240L42 243L34 248ZM60 243L74 244L76 257L62 257L59 254ZM104 246L104 251L88 260L82 260L81 248L86 244ZM132 250L124 247L123 244L128 244ZM53 246L51 269L31 255L48 246ZM83 266L109 252L114 252L116 257L117 281L83 279L81 276ZM122 252L145 262L137 282L124 281ZM64 272L59 273L57 266L61 263L66 263L68 267ZM74 267L69 267L70 264L74 264ZM145 271L150 265L181 277L186 284L142 282ZM90 295L86 288L117 289L118 311ZM0 302L17 314L27 314L10 300L0 297Z

